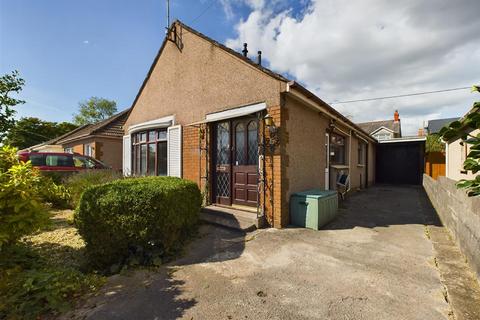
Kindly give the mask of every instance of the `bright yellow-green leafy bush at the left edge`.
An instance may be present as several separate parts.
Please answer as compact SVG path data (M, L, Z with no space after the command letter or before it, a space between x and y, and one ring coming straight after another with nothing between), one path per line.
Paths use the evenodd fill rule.
M17 150L0 148L0 249L48 223L42 203L42 176Z

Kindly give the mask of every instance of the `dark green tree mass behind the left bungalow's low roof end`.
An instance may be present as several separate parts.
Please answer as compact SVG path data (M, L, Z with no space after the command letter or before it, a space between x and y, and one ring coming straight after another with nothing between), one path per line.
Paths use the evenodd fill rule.
M70 122L49 122L38 118L21 118L9 130L4 143L18 149L25 149L48 141L77 128Z

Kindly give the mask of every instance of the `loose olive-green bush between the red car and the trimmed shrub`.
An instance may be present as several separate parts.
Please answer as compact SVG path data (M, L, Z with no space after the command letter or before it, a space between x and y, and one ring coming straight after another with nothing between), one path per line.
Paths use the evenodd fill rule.
M114 170L86 170L66 177L63 184L70 193L70 207L75 208L78 205L80 196L88 187L122 178L122 174Z

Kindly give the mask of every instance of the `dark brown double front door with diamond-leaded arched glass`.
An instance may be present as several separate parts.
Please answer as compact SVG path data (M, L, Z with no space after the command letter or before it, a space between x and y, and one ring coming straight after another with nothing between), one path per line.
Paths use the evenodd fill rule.
M214 128L214 201L256 206L258 198L258 122L241 118Z

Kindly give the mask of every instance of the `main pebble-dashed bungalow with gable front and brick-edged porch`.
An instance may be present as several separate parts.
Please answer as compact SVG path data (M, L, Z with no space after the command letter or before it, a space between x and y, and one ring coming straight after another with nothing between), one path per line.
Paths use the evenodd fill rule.
M195 181L206 205L289 223L289 198L375 180L376 140L294 81L176 21L124 125L125 175Z

